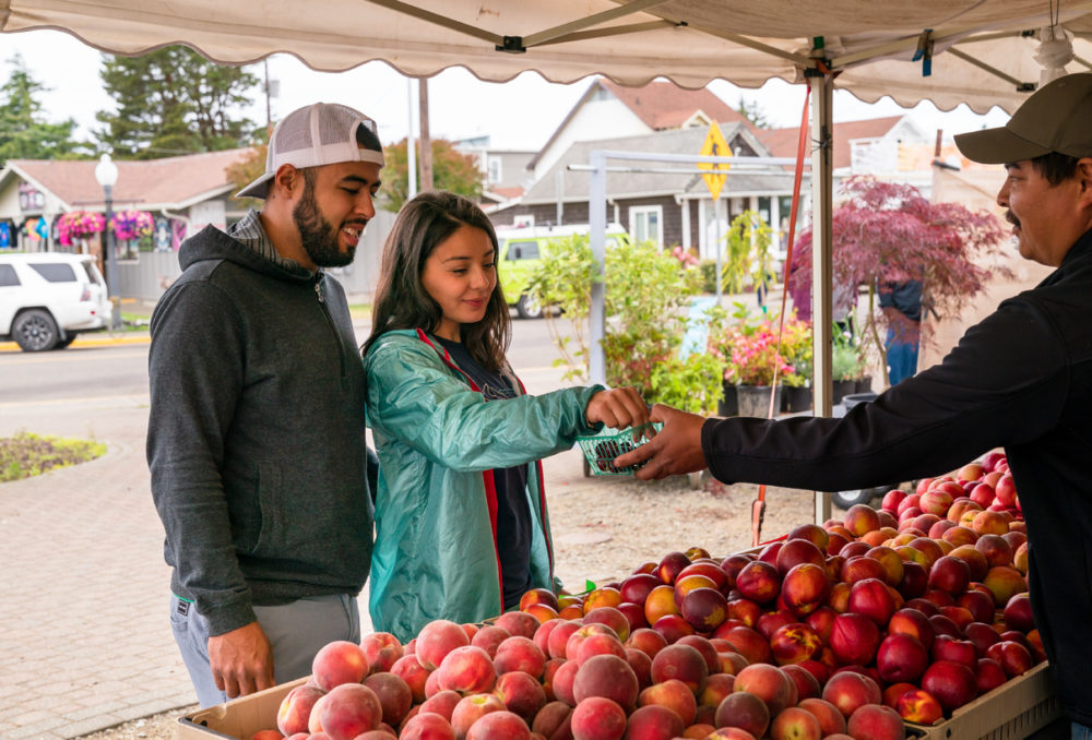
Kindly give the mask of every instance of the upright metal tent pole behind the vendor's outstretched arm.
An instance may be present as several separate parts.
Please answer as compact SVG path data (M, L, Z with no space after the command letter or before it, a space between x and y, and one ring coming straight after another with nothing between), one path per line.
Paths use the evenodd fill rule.
M831 255L833 252L833 104L834 77L819 74L811 81L811 342L815 414L833 411L831 383ZM831 515L830 493L816 491L816 524Z

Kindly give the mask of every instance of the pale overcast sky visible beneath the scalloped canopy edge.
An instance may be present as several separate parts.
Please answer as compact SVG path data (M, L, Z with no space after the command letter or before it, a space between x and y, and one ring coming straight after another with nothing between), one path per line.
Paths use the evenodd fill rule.
M95 126L95 112L111 105L98 75L100 53L61 32L0 34L0 61L3 62L0 80L8 79L10 68L7 62L16 52L23 56L33 77L49 88L41 100L46 119L56 122L74 118L81 135L87 136ZM251 67L251 71L259 76L264 75L262 64ZM369 62L334 74L314 72L294 57L278 55L270 59L269 72L270 77L280 84L280 95L270 102L274 121L316 100L345 103L377 120L384 143L406 135L411 120L410 85L405 77L382 62ZM429 82L431 134L444 139L488 134L496 147L537 151L587 88L590 81L589 77L570 85L559 85L546 82L537 73L525 72L501 84L482 82L462 69L447 70ZM802 86L775 80L755 91L716 81L710 88L731 106L738 106L740 95L748 104L757 103L767 119L776 127L799 123L804 103ZM413 102L416 105L416 88ZM834 93L835 121L905 111L890 98L869 105L848 93ZM256 122L264 122L264 95L259 95L246 112ZM416 120L416 110L413 116ZM942 128L949 135L984 126L1000 126L1008 120L1008 116L997 108L986 116L977 116L965 106L940 114L930 103L917 106L914 116L927 129Z

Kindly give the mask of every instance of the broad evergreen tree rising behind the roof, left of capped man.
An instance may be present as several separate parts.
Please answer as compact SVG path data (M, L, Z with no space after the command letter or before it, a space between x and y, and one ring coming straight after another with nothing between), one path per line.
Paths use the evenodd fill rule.
M103 84L116 111L99 111L95 136L118 157L152 159L251 143L240 109L259 80L241 67L209 61L183 46L140 57L104 55Z

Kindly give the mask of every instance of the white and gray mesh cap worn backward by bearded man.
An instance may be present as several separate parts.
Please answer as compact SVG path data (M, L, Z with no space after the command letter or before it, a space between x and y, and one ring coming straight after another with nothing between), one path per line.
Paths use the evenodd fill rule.
M342 162L370 162L383 166L383 145L376 122L348 106L314 103L285 116L270 136L265 174L235 194L265 198L270 181L282 165L321 167Z

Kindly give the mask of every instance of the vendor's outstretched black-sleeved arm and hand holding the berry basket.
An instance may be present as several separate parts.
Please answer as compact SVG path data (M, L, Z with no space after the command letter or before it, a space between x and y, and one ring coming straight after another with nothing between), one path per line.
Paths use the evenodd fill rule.
M936 475L1051 429L1068 392L1065 368L1065 346L1045 314L1008 302L969 330L941 365L842 419L729 418L700 426L689 419L665 425L656 440L617 464L649 459L643 478L693 469L697 427L710 472L725 482L846 490ZM661 439L668 435L681 439Z

